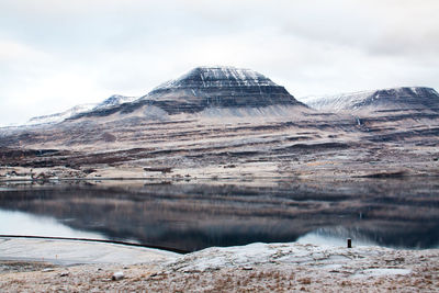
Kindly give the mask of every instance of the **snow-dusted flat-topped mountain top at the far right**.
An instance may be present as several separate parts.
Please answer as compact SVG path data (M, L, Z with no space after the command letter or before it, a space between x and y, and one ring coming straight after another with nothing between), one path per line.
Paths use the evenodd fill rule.
M431 88L392 88L373 91L308 97L303 101L316 110L339 112L360 110L439 111L439 94Z

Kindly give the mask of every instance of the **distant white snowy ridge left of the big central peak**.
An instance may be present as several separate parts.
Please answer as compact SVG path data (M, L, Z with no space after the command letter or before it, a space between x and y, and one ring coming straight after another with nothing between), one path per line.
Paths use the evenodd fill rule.
M105 99L101 103L88 103L88 104L80 104L76 105L67 111L60 112L60 113L55 113L50 115L44 115L44 116L36 116L32 117L29 122L25 123L25 125L37 125L37 124L54 124L54 123L59 123L63 122L67 119L75 117L79 114L88 113L91 111L99 111L103 109L109 109L115 105L120 105L123 103L128 103L138 98L136 97L125 97L125 95L120 95L120 94L114 94L111 95L110 98Z

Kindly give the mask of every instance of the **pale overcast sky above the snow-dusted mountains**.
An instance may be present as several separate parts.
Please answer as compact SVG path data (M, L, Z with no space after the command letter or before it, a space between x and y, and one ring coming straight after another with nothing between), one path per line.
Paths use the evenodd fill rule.
M257 70L295 97L439 89L437 0L1 0L0 125L200 65Z

